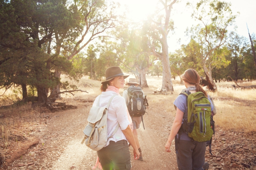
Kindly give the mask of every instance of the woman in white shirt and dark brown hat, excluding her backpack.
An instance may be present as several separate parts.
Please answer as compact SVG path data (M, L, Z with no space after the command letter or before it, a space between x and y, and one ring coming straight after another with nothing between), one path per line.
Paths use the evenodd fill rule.
M127 110L125 100L119 94L119 89L124 87L125 78L120 67L109 67L106 70L106 81L102 82L102 91L99 101L100 107L107 106L110 98L116 95L108 107L107 133L108 140L105 147L97 151L98 163L103 170L127 170L131 169L131 157L128 142L133 147L134 159L139 159L140 153L132 134L132 120ZM99 96L96 97L93 106L97 105ZM115 128L118 130L112 135ZM97 163L95 165L97 167Z

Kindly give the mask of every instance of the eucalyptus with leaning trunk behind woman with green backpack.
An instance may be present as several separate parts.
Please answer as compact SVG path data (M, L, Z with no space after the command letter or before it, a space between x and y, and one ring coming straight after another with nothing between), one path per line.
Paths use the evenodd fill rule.
M222 1L201 0L192 7L192 18L199 21L188 33L191 38L200 45L200 58L202 68L212 91L217 90L212 74L211 60L213 52L221 47L227 40L228 26L231 26L236 18L231 11L231 4ZM209 65L207 65L207 62ZM209 66L209 67L208 67Z

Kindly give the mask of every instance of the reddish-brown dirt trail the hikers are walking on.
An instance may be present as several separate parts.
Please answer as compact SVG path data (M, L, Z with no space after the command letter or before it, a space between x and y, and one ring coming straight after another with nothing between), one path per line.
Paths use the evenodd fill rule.
M164 150L173 117L165 110L161 96L148 95L149 101L151 97L156 101L150 102L148 115L144 115L145 130L142 124L138 129L144 161L133 160L133 149L130 147L132 169L177 169L175 153L167 153ZM85 144L81 145L80 142L93 103L84 103L83 100L85 98L82 97L70 99L69 104L77 105L77 109L42 113L42 117L47 115L49 118L47 125L38 132L40 143L29 150L23 160L18 160L19 164L23 163L25 166L28 161L34 164L20 168L16 161L12 164L13 169L91 170L97 158L96 151L89 149Z

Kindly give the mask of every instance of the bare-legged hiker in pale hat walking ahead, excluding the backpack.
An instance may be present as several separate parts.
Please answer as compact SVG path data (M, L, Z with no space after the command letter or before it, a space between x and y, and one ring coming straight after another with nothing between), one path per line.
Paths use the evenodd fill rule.
M136 82L136 79L129 79L129 82L127 82L125 85L128 85L128 86L134 85L134 86L137 87L140 84ZM144 93L143 93L143 96L145 96ZM127 105L128 102L129 102L128 90L124 90L123 97L124 97L125 103ZM132 123L133 123L133 131L132 131L132 133L133 133L136 145L137 145L137 147L139 149L139 152L140 152L140 158L138 159L139 161L143 161L142 152L141 152L141 148L140 148L140 142L139 142L139 138L138 138L138 132L137 132L137 129L140 128L141 121L142 121L141 116L139 116L139 117L132 117Z

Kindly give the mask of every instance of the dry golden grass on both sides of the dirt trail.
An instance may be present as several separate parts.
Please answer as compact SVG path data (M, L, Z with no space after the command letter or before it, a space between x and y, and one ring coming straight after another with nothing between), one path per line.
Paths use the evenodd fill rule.
M130 76L132 78L132 75ZM62 80L67 80L64 76ZM87 90L89 92L89 96L97 96L100 94L99 81L93 81L88 79L87 77L83 77L79 83L71 82L79 89ZM173 88L174 92L171 95L154 95L153 92L155 90L160 90L162 85L162 77L151 77L147 76L147 83L149 85L148 88L143 89L147 95L150 97L150 102L159 102L161 100L165 102L165 107L170 112L170 116L175 116L175 109L173 107L173 101L179 95L180 91L185 88L184 85L180 84L179 78L173 80ZM255 132L256 124L253 123L256 120L256 89L234 89L231 85L234 82L220 82L216 83L218 87L217 92L208 92L214 98L215 106L217 108L217 114L214 116L216 121L216 125L225 130L243 130L244 132ZM256 81L252 82L239 82L239 85L248 86L248 85L256 85ZM125 87L127 88L127 86ZM205 87L204 87L205 88ZM1 91L2 92L2 91ZM123 89L120 90L122 94ZM88 94L85 92L75 92L75 97L88 97ZM63 100L73 97L71 94L62 94ZM0 98L0 105L11 104L18 99L21 99L21 93L19 89L12 88L6 92L5 95ZM30 105L25 105L20 108L13 108L12 111L0 110L0 114L4 114L5 112L10 112L13 115L19 114L32 114L33 111L31 109L29 111L27 108L31 108ZM24 125L29 126L31 122L24 123ZM0 119L0 126L2 128L2 135L7 136L10 132L11 126L20 126L20 121L18 119Z

